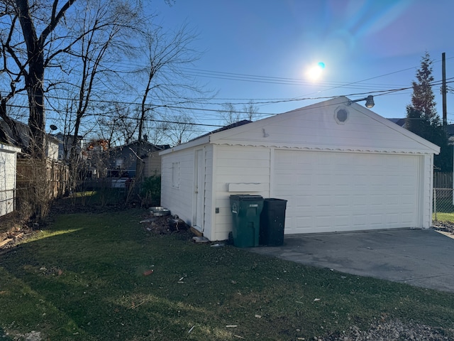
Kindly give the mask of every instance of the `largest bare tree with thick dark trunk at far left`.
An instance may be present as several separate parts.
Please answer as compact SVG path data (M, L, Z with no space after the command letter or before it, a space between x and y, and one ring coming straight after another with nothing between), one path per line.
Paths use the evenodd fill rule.
M1 98L1 114L5 119L6 102L16 92L26 90L28 95L28 126L30 139L28 150L35 158L45 157L45 70L62 48L55 41L55 29L75 0L58 0L48 4L45 1L2 0L1 13L6 26L1 30L4 67L11 80L11 91ZM7 121L7 119L6 119Z

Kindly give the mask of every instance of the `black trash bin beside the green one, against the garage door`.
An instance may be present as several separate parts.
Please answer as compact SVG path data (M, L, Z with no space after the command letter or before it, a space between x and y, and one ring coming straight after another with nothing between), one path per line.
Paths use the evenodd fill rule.
M278 247L284 244L285 208L287 200L266 198L260 214L260 245Z

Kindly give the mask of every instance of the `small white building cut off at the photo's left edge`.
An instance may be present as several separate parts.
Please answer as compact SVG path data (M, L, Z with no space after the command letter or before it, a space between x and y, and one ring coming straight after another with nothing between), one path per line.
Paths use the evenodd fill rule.
M16 154L20 148L0 144L0 217L15 210Z

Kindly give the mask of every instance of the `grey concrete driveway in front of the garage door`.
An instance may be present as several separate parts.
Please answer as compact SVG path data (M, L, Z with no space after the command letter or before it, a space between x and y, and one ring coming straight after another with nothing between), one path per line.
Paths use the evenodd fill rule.
M454 239L433 229L289 234L250 251L336 271L454 292Z

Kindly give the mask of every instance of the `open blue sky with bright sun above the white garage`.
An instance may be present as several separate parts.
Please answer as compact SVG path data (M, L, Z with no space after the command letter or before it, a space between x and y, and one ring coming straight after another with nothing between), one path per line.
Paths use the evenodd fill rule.
M175 0L172 6L155 0L150 6L165 28L188 23L198 32L195 47L204 54L185 72L218 92L206 108L232 102L240 109L252 99L266 102L257 104L260 113L279 114L322 97L372 93L374 112L405 117L411 90L375 92L411 87L426 51L436 81L443 52L446 77L454 77L451 0ZM326 65L323 74L310 80L306 71L319 62ZM440 87L433 91L441 116ZM454 123L453 101L448 94ZM193 114L199 121L218 119L216 112Z

